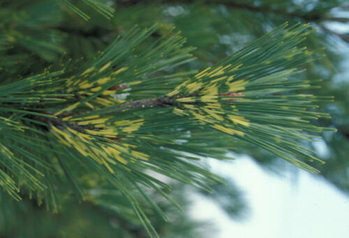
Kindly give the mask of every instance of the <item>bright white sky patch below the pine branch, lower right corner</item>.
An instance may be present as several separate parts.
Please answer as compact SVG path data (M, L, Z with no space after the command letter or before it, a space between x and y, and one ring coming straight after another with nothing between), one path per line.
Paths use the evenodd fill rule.
M248 156L210 164L239 185L249 207L246 218L232 220L211 200L193 196L191 216L213 222L215 238L349 237L348 195L325 179L298 168L273 174Z

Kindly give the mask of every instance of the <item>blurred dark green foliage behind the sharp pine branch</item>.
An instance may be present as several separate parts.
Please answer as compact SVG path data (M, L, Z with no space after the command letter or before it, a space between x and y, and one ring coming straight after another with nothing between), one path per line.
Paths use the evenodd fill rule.
M109 45L115 36L122 36L136 24L149 27L159 22L161 28L152 38L158 38L176 27L187 38L188 46L197 47L193 54L198 60L183 67L196 69L216 63L283 22L310 22L318 31L303 44L309 50L319 50L326 57L309 64L306 72L297 77L323 80L322 88L313 89L316 91L311 93L333 95L336 101L320 105L320 111L329 112L332 119L320 120L318 124L339 130L338 133L324 132L320 142L308 144L320 152L318 156L326 162L325 165L315 165L321 173L314 176L322 176L341 191L349 193L348 1L93 2L101 4L99 12L91 8L90 1L1 1L1 80L11 82L18 77L40 73L47 67L80 66L93 59L96 52ZM77 14L75 7L84 14ZM146 47L147 43L144 43L144 50ZM239 144L235 147L240 148ZM294 169L261 149L252 146L241 148L245 149L238 150L239 153L251 155L267 170L282 173L283 170ZM186 210L193 188L173 185L172 195ZM215 191L213 194L200 193L218 202L232 218L244 218L248 201L244 200L244 195L233 181L218 184ZM152 196L157 199L155 194ZM124 202L121 196L101 198L110 200L110 207L89 202L77 206L67 200L60 214L45 212L45 206L38 206L37 201L29 198L21 201L20 206L13 204L5 194L1 194L1 199L0 237L147 237L137 218L125 215L127 209L123 211L112 206L113 202ZM158 202L170 216L170 223L164 222L157 214L150 216L161 237L201 237L202 229L208 229L207 224L191 221L186 212L169 206L165 201Z

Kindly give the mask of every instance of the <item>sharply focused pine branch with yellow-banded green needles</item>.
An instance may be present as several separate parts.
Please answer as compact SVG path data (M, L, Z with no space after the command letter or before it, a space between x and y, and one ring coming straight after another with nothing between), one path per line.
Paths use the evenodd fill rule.
M315 103L332 97L295 94L316 86L290 79L316 57L297 47L311 34L309 24L283 24L199 73L176 72L193 61L193 47L184 47L178 33L140 48L156 30L132 29L78 70L46 70L0 86L6 192L20 199L23 186L57 209L63 183L103 205L88 195L91 187L81 180L89 177L98 188L117 190L151 235L156 232L138 201L163 212L143 187L179 205L163 191L170 186L147 171L211 191L221 178L192 161L225 158L242 140L318 172L309 162L322 161L299 141L326 129L311 120L329 117L315 112Z

